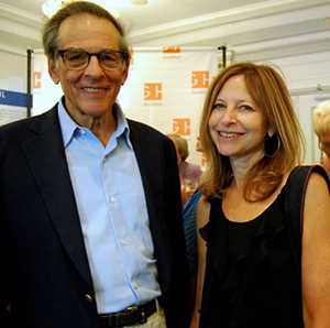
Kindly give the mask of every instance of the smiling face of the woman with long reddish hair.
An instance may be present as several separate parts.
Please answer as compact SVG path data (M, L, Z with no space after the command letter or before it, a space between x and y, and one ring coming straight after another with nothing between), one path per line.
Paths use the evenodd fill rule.
M232 76L216 98L209 118L213 143L223 156L255 162L264 155L268 123L246 89L243 75Z

